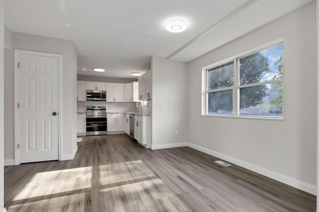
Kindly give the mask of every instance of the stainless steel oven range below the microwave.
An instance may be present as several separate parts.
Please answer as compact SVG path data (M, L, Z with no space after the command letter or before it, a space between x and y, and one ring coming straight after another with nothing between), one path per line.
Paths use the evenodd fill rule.
M86 107L86 135L107 135L107 115L105 106Z

